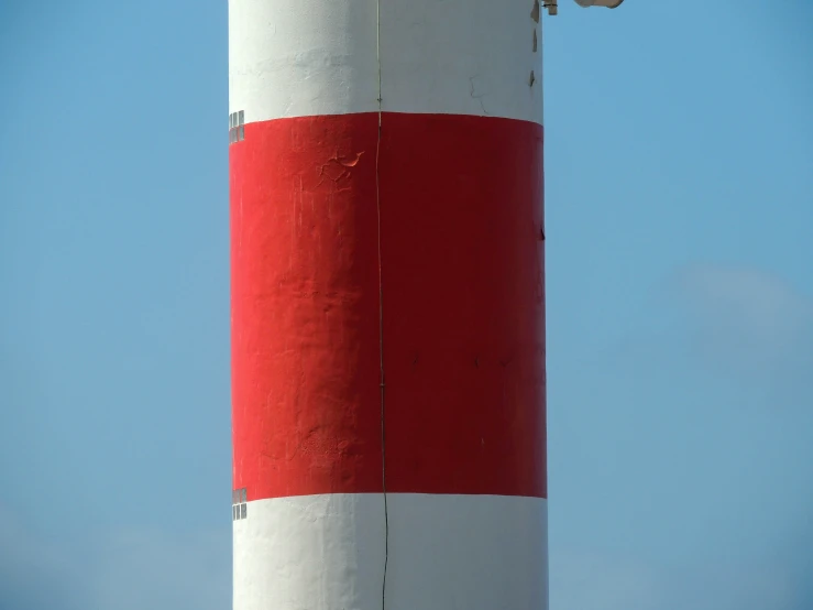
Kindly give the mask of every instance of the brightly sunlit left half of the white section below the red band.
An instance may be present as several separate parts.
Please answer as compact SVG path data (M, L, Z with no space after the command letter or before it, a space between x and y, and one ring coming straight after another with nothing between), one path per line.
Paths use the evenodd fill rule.
M233 610L381 610L381 495L249 502L234 522Z

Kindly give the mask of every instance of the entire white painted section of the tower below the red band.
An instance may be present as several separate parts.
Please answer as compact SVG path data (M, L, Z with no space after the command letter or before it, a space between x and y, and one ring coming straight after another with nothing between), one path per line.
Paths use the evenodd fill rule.
M547 501L387 494L387 610L547 610ZM381 610L382 494L250 502L233 610Z

